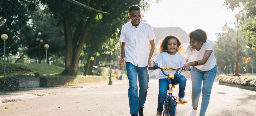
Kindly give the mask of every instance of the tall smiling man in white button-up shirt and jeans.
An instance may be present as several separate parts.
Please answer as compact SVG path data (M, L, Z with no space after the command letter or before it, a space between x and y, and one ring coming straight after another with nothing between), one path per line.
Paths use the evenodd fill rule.
M131 22L122 26L119 41L121 45L121 59L119 66L124 61L129 79L129 105L132 116L143 116L144 103L147 97L149 75L147 67L151 64L151 58L155 50L155 34L152 27L140 21L140 7L133 5L129 8ZM149 50L149 43L151 48ZM137 86L137 73L139 80L139 95Z

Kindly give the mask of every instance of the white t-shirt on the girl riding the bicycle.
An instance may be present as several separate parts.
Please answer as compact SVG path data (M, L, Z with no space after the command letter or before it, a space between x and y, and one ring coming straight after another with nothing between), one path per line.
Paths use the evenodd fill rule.
M175 55L170 55L167 52L161 52L155 58L153 58L155 63L158 63L160 67L183 67L186 63L184 57L181 53L176 52ZM166 74L175 73L176 71L165 71ZM159 79L167 78L161 70L159 70Z

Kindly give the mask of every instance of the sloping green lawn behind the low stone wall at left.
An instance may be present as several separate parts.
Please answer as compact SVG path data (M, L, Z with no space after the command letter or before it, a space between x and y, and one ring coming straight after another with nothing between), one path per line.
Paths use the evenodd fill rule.
M4 64L0 63L0 78L4 77ZM55 65L47 65L47 73L49 76L58 75L64 70L63 67ZM34 77L34 73L45 76L45 64L28 64L28 63L6 63L6 77Z

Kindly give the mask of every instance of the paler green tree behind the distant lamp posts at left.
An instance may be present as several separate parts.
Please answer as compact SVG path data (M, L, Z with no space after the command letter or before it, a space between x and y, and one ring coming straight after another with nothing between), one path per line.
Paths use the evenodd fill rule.
M41 44L41 58L45 58L44 44L49 44L48 53L50 56L60 57L64 55L63 27L57 27L55 23L53 14L49 12L46 5L39 5L31 13L31 22L21 33L23 48L26 47L26 54L30 58L39 57L39 44ZM42 33L42 39L44 40L42 43L36 40L38 32Z

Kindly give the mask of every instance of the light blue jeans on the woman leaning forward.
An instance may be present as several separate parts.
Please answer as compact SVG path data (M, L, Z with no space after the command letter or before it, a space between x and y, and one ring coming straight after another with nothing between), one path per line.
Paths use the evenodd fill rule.
M191 80L192 80L192 106L198 107L199 97L202 91L202 103L200 115L204 116L209 104L211 88L217 73L217 65L209 71L200 71L194 66L191 67ZM202 87L203 82L203 87Z

